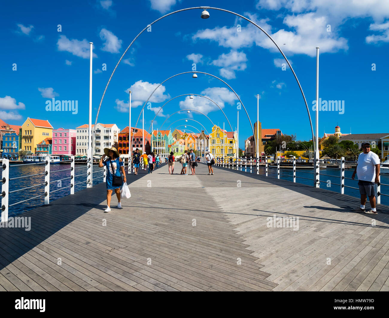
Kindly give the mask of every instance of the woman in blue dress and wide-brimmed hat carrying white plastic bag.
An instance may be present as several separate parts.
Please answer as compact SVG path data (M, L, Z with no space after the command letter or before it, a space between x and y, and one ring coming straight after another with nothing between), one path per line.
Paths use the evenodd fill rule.
M107 157L107 160L104 161L104 158ZM117 152L115 147L112 148L104 148L104 154L100 159L98 164L100 168L103 166L107 167L107 178L105 179L105 185L107 187L107 208L104 212L109 212L112 190L115 190L117 197L117 207L121 209L120 203L120 187L121 185L113 185L112 181L114 180L114 176L119 177L121 179L120 171L123 173L124 182L126 182L126 173L124 172L124 163L119 158L119 152ZM123 184L123 181L122 181Z

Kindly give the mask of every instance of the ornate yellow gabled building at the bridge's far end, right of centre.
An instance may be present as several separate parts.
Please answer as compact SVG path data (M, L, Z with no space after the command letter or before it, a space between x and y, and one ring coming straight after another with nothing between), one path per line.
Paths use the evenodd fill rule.
M237 153L237 132L212 127L209 135L209 150L215 157L235 157Z

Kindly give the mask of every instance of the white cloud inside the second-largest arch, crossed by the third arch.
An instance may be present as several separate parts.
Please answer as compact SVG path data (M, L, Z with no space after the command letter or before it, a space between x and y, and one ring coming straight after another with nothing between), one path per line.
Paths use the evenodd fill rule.
M226 103L233 105L238 100L237 96L226 87L208 87L201 92L201 95L209 97L222 109ZM180 101L179 106L180 109L195 109L204 114L220 110L212 101L196 95L193 96L193 99L186 96L185 100Z

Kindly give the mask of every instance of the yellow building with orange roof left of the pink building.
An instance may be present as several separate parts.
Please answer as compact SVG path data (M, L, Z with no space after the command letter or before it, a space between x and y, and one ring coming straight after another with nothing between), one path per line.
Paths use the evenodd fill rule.
M32 154L37 151L37 144L47 137L53 137L53 126L49 121L33 119L27 117L22 125L21 150L26 150Z

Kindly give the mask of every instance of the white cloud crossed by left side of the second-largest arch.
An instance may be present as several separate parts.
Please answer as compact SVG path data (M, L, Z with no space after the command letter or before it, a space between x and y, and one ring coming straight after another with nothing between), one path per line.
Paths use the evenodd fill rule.
M132 107L138 107L139 105L142 105L145 103L147 98L149 98L150 94L156 87L158 86L158 83L149 83L144 82L143 80L138 80L134 84L131 85L129 88L132 92L131 94L131 108ZM125 92L128 93L128 90L126 89ZM166 87L161 85L158 87L158 89L152 94L149 102L150 103L161 103L168 98L170 98L169 94L165 94ZM151 106L152 107L152 106Z

